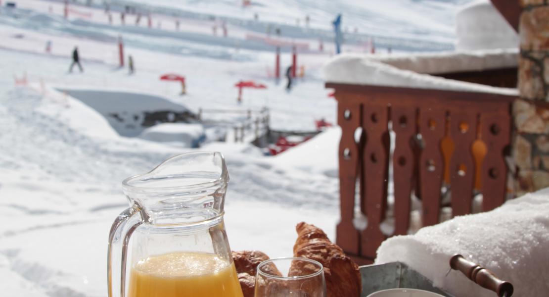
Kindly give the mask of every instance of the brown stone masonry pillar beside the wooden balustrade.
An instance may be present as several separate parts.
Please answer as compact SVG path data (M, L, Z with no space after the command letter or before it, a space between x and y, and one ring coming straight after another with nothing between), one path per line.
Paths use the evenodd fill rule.
M520 99L513 104L516 195L549 187L549 0L520 4Z

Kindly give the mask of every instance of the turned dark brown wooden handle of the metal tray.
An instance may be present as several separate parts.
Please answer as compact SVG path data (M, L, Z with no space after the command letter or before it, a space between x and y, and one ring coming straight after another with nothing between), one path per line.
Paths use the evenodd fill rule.
M511 297L513 285L497 278L490 270L466 260L462 255L455 255L450 259L450 267L465 274L471 281L480 287L496 292L499 297Z

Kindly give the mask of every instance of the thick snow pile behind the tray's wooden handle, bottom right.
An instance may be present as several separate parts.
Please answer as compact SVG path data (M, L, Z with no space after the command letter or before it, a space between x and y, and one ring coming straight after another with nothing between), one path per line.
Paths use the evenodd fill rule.
M549 283L539 280L549 279L548 230L549 189L544 189L490 212L389 238L379 247L376 263L404 262L455 296L494 296L461 272L447 273L450 258L461 254L511 282L514 295L545 296Z

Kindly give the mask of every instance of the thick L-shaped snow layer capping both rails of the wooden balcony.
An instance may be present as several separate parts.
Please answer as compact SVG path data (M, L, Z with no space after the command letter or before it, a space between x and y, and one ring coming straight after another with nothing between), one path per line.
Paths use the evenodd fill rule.
M493 60L492 62L485 63L490 66L501 66L497 68L505 68L503 65L511 62L512 54L504 52L502 51L502 57L504 58L501 61L498 61L494 56L486 59L486 61ZM440 55L439 57L436 54L416 55L407 57L407 59L404 57L400 58L400 60L395 58L392 61L386 62L383 58L372 58L371 55L341 54L324 65L324 80L326 82L348 83L352 85L445 89L517 95L518 91L516 88L491 87L424 74L425 72L432 71L434 71L433 73L444 72L437 71L442 69L454 69L455 71L481 70L478 69L479 65L477 64L482 64L479 61L483 61L485 57L486 55L480 54L480 52L479 55L456 52L454 54ZM477 64L475 64L475 61ZM442 65L445 63L446 65ZM400 69L389 64L402 65L405 69Z

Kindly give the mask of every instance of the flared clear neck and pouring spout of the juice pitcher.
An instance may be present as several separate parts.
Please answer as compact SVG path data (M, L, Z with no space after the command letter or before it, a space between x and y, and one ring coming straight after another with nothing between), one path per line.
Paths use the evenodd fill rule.
M229 175L219 152L173 156L155 169L126 178L122 188L153 223L205 220L223 213Z

